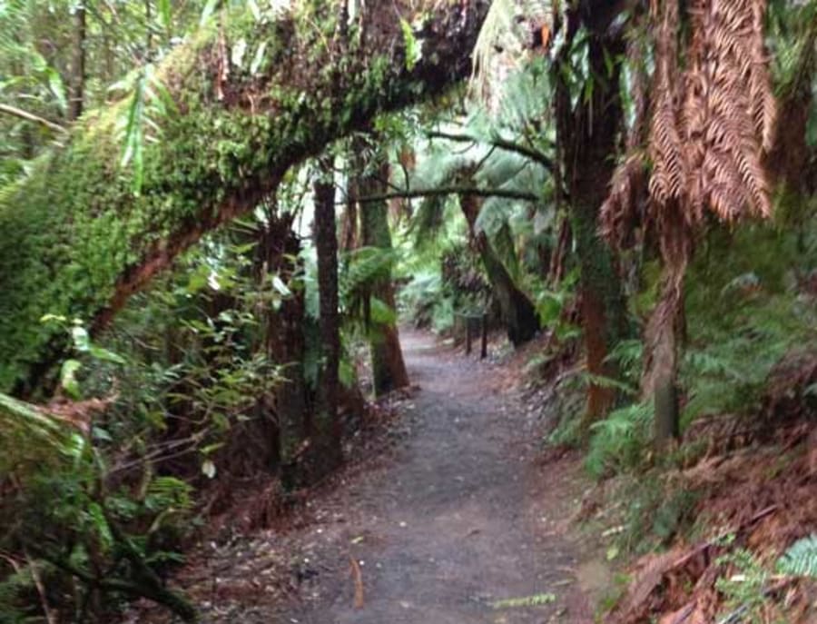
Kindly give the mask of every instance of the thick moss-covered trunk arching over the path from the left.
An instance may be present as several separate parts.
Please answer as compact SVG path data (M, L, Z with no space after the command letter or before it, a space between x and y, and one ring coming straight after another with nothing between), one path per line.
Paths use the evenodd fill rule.
M133 171L119 165L126 102L85 114L64 148L3 191L0 391L30 391L63 351L44 314L102 328L203 233L271 193L293 164L373 115L466 77L465 51L488 3L367 3L349 29L338 27L340 11L310 8L335 3L300 4L295 11L308 15L221 15L165 60L158 75L174 110L153 119L158 140L144 145L140 193Z

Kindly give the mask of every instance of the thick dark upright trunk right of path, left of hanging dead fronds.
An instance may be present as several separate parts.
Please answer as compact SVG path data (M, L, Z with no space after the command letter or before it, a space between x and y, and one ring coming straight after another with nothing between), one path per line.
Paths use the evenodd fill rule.
M579 16L572 14L568 35L575 34ZM559 152L563 158L566 189L570 199L570 222L579 258L581 316L587 372L614 377L615 367L606 362L611 347L625 333L625 302L610 248L599 236L598 215L614 172L613 154L622 124L619 77L624 45L620 38L603 40L590 32L589 74L593 90L571 107L569 85L561 71L556 75L556 124ZM569 47L569 46L566 46ZM608 59L612 65L608 70ZM566 59L561 60L562 63ZM583 429L602 417L615 402L615 391L591 380Z

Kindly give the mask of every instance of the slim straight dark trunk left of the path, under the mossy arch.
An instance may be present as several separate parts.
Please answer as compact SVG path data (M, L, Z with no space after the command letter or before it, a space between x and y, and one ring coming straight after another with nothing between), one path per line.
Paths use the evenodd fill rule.
M335 223L335 185L332 182L332 163L328 158L321 161L321 169L321 177L314 184L314 194L320 339L323 357L311 431L310 471L313 479L320 479L329 474L342 461L342 431L338 414L338 369L340 366L338 234Z

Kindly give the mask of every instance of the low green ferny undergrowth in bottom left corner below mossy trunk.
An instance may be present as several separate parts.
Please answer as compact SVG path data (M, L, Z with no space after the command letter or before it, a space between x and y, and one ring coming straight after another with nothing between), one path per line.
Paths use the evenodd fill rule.
M52 422L47 442L37 436L39 448L4 446L14 469L0 480L7 564L0 564L0 621L28 621L41 612L41 601L67 621L94 596L103 596L108 610L124 597L143 596L191 619L192 608L159 578L179 560L170 549L190 527L190 486L150 473L142 484L118 480L90 435ZM37 435L36 427L22 427Z

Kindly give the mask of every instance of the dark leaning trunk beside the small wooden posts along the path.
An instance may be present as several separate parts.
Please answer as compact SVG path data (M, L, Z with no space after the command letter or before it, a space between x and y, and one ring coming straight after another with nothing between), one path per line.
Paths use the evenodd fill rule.
M476 223L481 200L474 195L460 195L459 205L468 222L471 238L477 246L488 282L499 302L507 337L515 347L531 340L539 331L539 317L534 304L517 288L505 265L497 257L484 232L477 233Z

